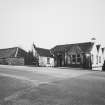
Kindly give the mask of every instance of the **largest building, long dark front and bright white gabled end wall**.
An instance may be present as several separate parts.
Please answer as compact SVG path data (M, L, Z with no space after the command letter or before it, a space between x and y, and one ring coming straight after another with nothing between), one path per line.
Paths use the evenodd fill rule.
M104 51L95 41L57 45L51 49L54 55L55 66L80 67L92 70L102 70L105 60Z

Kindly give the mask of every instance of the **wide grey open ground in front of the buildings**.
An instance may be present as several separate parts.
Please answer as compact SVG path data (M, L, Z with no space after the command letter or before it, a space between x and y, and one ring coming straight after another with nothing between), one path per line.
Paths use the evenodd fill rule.
M105 105L105 72L0 65L0 105Z

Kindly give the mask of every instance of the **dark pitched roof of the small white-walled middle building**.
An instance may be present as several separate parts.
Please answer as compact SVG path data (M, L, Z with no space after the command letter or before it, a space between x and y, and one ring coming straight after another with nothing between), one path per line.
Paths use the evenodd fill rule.
M38 48L38 47L36 47L35 49L36 49L37 53L38 53L40 56L53 57L53 56L51 55L49 49Z

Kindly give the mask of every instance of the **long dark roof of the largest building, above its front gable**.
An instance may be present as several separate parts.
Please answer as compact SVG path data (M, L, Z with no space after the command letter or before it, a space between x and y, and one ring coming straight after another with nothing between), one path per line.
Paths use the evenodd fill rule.
M52 52L64 52L70 50L73 46L79 46L83 53L90 52L94 43L85 42L85 43L76 43L76 44L65 44L65 45L57 45L51 49Z

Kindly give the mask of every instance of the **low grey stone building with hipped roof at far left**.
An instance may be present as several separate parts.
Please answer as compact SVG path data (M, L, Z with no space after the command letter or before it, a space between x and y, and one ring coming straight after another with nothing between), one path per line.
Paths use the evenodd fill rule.
M24 65L27 52L19 47L0 49L0 64Z

